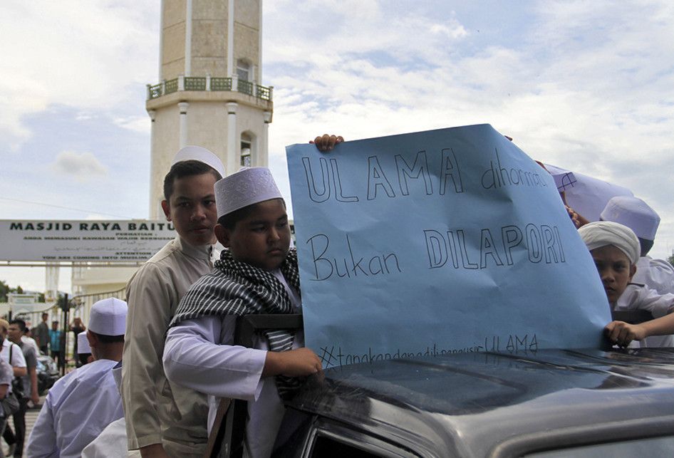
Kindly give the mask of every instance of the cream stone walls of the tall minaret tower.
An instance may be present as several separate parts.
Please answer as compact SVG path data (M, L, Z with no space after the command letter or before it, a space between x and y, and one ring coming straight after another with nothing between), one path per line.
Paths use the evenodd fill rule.
M162 76L172 80L185 74L187 0L164 0L162 11ZM192 40L190 76L227 75L227 21L229 0L192 0ZM251 80L259 83L261 74L260 10L261 0L234 0L234 60L243 59L251 68ZM150 218L162 218L163 179L172 158L180 149L180 109L187 102L187 132L184 145L199 145L217 154L227 174L238 170L242 132L252 137L252 165L267 165L264 135L265 117L270 121L271 101L234 91L185 91L162 95L147 101L152 122L150 159ZM237 106L235 150L227 151L227 103ZM265 114L266 113L266 114ZM228 157L230 155L230 157Z

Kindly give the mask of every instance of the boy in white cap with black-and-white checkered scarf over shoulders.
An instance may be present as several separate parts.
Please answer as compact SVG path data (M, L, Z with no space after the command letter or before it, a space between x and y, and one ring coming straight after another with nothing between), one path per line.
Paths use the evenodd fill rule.
M182 298L164 368L169 380L209 395L209 420L216 398L248 400L244 456L269 457L284 415L281 398L299 386L296 377L321 370L321 360L301 348L301 332L266 331L254 348L233 345L237 316L300 311L299 272L286 206L268 169L241 170L219 180L215 192L215 234L227 250Z

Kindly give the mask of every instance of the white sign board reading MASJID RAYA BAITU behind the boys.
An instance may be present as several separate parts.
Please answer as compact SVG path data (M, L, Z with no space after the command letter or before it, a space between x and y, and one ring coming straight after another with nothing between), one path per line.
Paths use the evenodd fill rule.
M175 238L160 220L0 220L1 261L133 263Z

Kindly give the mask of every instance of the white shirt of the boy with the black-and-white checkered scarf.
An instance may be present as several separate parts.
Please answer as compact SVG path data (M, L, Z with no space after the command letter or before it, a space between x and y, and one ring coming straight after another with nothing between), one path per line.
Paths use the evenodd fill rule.
M299 295L288 286L280 271L272 273L284 283L299 311ZM236 316L205 316L170 328L164 346L164 370L172 382L209 395L209 431L220 397L249 401L244 456L269 457L285 407L274 378L261 377L269 343L266 338L256 336L254 348L231 345L236 321ZM299 331L293 348L301 347L304 333Z

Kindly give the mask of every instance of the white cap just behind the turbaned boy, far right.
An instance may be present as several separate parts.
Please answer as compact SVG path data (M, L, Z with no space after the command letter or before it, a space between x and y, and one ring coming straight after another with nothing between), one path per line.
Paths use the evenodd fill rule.
M660 217L655 210L638 197L616 196L608 201L603 212L603 221L624 224L641 239L655 240L655 232L660 225Z

